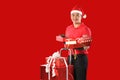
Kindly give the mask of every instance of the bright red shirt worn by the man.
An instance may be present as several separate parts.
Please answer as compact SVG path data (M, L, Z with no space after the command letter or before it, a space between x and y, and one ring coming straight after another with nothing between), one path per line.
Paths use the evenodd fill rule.
M82 35L91 37L91 30L84 23L78 28L74 28L74 25L70 25L66 28L65 36L68 38L76 39L82 37ZM84 51L84 53L87 53L87 51Z

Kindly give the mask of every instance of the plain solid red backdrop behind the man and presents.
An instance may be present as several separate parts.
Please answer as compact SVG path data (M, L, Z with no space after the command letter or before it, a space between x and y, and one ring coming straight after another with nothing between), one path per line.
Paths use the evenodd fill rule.
M0 80L39 80L45 57L63 47L55 36L77 3L93 36L87 80L119 80L119 0L0 1Z

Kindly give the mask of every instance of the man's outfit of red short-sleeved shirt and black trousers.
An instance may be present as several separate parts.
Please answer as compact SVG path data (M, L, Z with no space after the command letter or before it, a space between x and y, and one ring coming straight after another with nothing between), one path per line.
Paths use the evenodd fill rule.
M66 28L65 37L67 38L80 38L83 35L87 35L91 37L91 30L84 24L78 28L74 28L74 25L70 25ZM87 65L88 65L88 58L86 56L87 50L84 48L73 48L72 53L72 64L74 65L74 80L86 80L86 72L87 72ZM75 58L76 55L76 58ZM68 60L70 57L68 56Z

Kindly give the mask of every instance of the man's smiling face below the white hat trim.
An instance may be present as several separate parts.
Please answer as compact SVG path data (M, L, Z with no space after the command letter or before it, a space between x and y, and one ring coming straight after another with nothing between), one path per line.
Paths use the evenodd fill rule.
M79 24L81 23L81 15L77 12L71 14L71 20L74 24Z

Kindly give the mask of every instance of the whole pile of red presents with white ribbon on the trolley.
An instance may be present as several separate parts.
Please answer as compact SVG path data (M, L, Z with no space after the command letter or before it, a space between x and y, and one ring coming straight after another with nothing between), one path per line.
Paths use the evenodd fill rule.
M61 57L62 50L66 48L47 57L46 64L40 66L40 80L74 80L73 65L68 65L66 57Z

